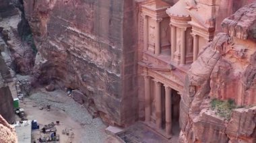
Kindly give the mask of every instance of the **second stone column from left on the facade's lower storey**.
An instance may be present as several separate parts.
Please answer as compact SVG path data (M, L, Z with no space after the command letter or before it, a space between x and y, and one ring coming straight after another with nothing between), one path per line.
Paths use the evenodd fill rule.
M155 98L156 98L156 127L162 128L162 103L161 103L161 83L155 81Z

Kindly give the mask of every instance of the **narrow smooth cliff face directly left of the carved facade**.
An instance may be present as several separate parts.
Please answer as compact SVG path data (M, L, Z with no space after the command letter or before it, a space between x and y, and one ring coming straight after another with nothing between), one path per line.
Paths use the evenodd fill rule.
M137 13L134 1L126 0L123 5L123 68L121 121L133 123L138 117L137 97Z

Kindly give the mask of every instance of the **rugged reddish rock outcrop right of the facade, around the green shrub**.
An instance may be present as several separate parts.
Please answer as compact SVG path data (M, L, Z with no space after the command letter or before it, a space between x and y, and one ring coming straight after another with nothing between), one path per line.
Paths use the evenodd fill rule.
M191 64L181 96L180 142L256 142L256 3L222 22L217 34ZM233 99L229 120L212 111L212 99Z

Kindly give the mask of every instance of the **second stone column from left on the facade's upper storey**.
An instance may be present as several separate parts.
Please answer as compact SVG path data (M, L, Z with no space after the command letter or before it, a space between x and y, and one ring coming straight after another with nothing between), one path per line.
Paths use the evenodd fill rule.
M160 22L162 19L156 19L156 41L155 41L155 54L160 54L161 44L160 44Z

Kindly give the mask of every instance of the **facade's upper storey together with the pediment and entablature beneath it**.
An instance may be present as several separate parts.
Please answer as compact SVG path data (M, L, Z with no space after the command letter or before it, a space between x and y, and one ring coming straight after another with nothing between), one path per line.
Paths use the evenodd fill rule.
M150 75L154 79L163 77L167 81L162 83L182 91L191 63L214 38L218 5L220 0L179 0L174 5L162 0L141 2L143 74L154 73Z

